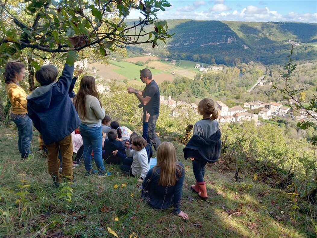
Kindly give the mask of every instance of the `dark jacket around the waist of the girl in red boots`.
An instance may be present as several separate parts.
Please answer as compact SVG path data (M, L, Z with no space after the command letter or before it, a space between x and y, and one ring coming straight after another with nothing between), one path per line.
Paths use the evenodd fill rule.
M220 157L220 138L221 132L219 129L209 138L194 135L183 149L184 158L192 157L197 161L216 162Z

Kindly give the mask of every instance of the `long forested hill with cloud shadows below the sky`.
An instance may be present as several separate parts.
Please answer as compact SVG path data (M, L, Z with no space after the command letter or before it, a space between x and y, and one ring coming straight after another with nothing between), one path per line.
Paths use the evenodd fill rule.
M281 63L289 54L289 41L300 43L294 48L295 60L316 57L314 23L167 20L167 24L175 35L156 52L165 49L174 58L226 65L237 60Z

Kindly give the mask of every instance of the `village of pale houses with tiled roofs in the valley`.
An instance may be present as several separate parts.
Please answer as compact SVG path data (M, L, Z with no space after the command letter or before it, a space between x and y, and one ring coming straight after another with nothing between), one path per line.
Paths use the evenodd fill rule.
M289 105L294 106L298 104L294 100L289 100ZM186 103L183 101L175 101L171 99L171 96L165 100L165 96L160 96L160 104L168 105L171 109L171 116L177 117L180 116L182 113L187 113L186 109L191 108L194 113L198 115L198 106L195 103ZM294 106L295 107L295 106ZM216 109L218 111L218 121L223 123L235 123L235 122L242 122L246 121L254 121L257 124L261 124L259 122L259 118L262 119L270 119L272 117L289 117L291 119L296 120L309 120L307 117L307 112L304 109L296 110L286 106L279 102L262 102L262 101L255 101L255 102L245 102L242 106L234 106L229 108L226 104L221 101L216 102ZM250 113L248 111L260 109L258 114ZM293 110L296 110L299 113L299 116L293 115ZM314 111L310 112L313 116L317 116L317 113Z

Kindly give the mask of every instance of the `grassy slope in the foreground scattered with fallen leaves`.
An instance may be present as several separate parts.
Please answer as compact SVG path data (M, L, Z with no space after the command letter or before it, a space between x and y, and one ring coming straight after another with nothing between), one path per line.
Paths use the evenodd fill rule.
M126 177L119 166L108 166L107 178L84 177L74 169L71 202L61 188L52 185L45 155L34 153L21 161L14 127L0 128L0 236L2 237L314 237L309 209L291 219L289 195L246 176L234 182L234 171L207 165L208 202L189 189L195 181L191 162L184 161L183 145L172 141L186 177L181 209L189 221L172 215L172 208L155 210L139 195L135 178ZM33 149L37 147L34 133ZM171 139L167 139L171 140ZM93 164L93 166L95 166ZM115 189L114 186L118 185ZM70 188L68 184L64 188ZM17 201L19 199L20 201ZM115 218L118 217L118 221ZM312 221L311 221L312 219ZM136 237L136 236L132 236Z

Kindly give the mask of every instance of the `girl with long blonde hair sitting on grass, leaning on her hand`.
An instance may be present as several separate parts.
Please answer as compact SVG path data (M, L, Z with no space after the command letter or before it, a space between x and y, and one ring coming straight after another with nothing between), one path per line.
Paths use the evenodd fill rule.
M157 165L149 170L143 183L141 196L152 208L174 207L174 213L183 219L180 200L185 178L184 165L176 162L176 150L171 142L163 142L157 149Z

